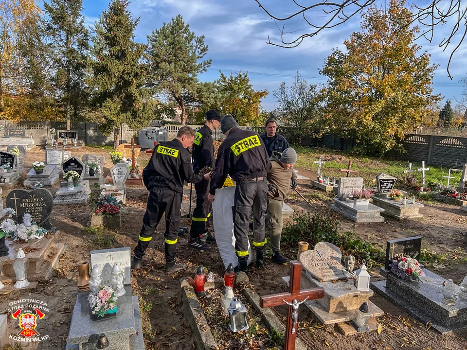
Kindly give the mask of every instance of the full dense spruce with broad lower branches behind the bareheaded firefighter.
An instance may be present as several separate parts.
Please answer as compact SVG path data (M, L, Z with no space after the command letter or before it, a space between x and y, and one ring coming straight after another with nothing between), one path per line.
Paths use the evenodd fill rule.
M114 132L114 148L122 123L137 129L152 117L153 99L145 88L147 68L142 62L146 45L134 41L139 18L132 19L128 3L112 0L92 38L93 76L88 83L102 118L99 128L104 135Z

